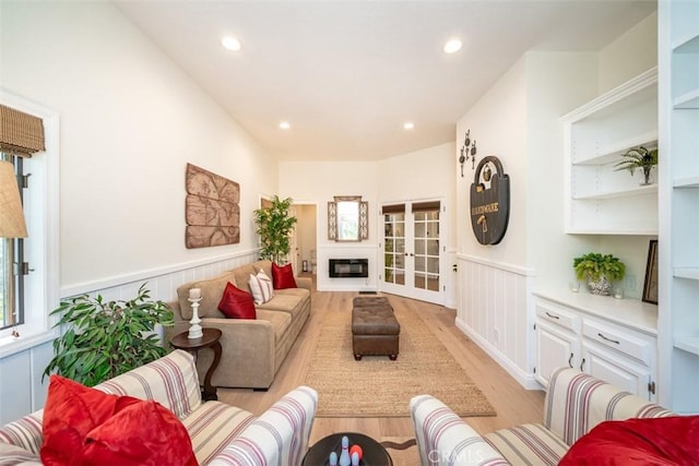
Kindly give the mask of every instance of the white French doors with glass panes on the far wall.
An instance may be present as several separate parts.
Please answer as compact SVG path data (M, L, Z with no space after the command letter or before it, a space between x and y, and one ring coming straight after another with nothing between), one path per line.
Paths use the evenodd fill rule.
M442 304L445 300L440 201L381 206L381 290Z

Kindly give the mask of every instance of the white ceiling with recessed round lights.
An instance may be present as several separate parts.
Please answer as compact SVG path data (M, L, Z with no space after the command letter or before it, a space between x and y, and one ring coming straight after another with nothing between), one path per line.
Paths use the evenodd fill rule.
M524 51L596 51L656 9L654 0L116 4L282 160L371 160L453 141L457 120ZM224 50L224 35L242 49ZM446 55L454 36L464 46ZM405 121L415 128L404 131Z

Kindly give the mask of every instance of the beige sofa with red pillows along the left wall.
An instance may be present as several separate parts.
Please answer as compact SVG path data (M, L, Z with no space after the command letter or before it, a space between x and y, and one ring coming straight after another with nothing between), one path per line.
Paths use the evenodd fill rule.
M241 265L214 278L181 285L177 288L178 299L169 303L175 313L175 325L166 328L167 340L189 331L192 318L189 290L201 289L202 300L198 312L201 326L218 328L223 334L221 363L211 380L215 386L269 389L310 315L311 280L295 277L298 288L275 289L270 301L256 306L257 320L226 319L218 311L226 284L230 282L250 291L250 275L257 274L260 268L272 277L270 261ZM200 380L204 380L212 360L213 351L199 351L197 370Z

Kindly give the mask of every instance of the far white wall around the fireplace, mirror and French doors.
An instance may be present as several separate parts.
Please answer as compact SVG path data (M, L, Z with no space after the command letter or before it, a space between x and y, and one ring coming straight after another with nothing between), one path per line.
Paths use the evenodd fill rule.
M378 162L294 162L280 163L280 195L295 203L318 204L318 289L357 290L378 288L379 225L378 208L392 201L443 199L447 204L449 246L455 244L453 143L442 144ZM335 195L360 195L369 203L369 239L360 242L328 240L328 202ZM453 238L453 239L452 239ZM451 248L453 249L453 248ZM369 278L330 278L331 258L368 258ZM451 261L451 253L446 259ZM447 277L452 280L452 276ZM449 303L454 302L453 286L448 284Z

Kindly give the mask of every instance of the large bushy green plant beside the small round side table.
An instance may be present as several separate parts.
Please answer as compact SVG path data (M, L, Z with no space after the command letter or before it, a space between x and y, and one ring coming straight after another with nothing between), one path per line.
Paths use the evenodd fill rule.
M166 355L156 325L173 325L173 311L150 299L141 285L130 301L106 301L87 295L61 301L50 315L60 315L55 327L66 332L54 340L54 359L44 377L56 372L94 386Z

